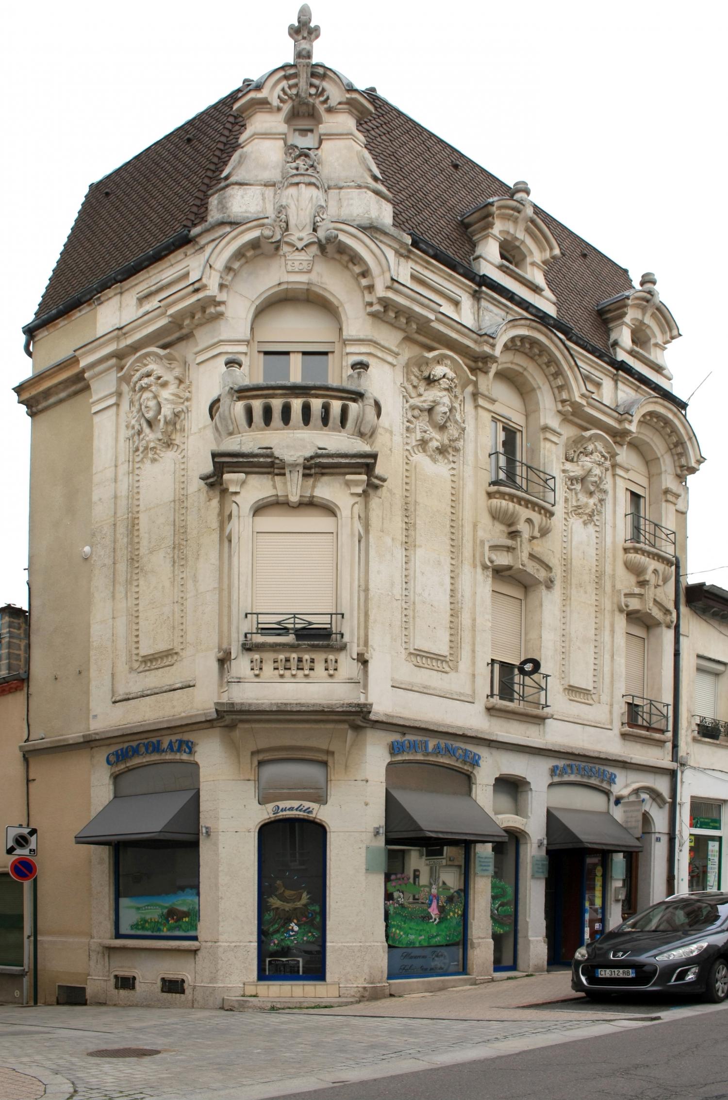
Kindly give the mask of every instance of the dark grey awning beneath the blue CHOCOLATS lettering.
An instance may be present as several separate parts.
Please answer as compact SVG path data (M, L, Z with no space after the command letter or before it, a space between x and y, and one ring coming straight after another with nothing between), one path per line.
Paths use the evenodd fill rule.
M159 791L112 799L76 834L76 844L117 840L197 840L200 792Z

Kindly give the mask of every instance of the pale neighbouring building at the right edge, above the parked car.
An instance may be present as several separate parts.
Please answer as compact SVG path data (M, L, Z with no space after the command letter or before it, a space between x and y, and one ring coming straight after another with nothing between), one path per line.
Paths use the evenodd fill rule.
M728 882L728 592L685 585L679 890Z

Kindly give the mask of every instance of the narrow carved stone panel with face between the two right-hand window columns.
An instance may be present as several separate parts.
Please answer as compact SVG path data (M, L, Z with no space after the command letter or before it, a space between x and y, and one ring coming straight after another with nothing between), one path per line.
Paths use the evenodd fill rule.
M562 679L569 698L598 700L603 662L605 502L611 459L582 438L563 464Z

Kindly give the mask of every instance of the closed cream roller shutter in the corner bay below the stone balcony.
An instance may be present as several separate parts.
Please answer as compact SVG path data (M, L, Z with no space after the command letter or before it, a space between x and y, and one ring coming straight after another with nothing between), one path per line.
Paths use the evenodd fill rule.
M257 531L254 609L330 613L334 602L332 531Z

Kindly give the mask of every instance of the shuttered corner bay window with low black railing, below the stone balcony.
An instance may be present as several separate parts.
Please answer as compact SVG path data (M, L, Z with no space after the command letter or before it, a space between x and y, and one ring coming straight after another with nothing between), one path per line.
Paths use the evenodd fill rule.
M331 640L337 612L337 519L324 508L272 505L253 519L253 631Z

